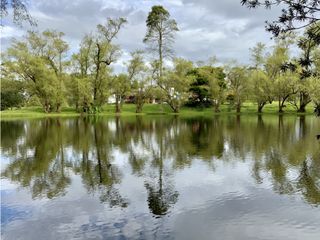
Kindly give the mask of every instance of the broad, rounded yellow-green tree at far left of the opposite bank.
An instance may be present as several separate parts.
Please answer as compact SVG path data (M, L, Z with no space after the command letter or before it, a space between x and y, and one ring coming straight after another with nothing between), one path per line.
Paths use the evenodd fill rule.
M22 41L14 40L7 49L3 68L25 82L29 96L37 96L45 112L60 111L64 98L63 55L67 44L62 33L28 32Z

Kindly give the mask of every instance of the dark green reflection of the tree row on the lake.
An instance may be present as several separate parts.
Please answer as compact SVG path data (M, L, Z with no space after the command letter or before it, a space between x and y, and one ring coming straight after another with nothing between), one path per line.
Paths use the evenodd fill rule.
M175 171L194 161L211 169L218 161L247 161L257 183L267 174L274 191L300 192L318 205L320 146L310 133L319 125L316 119L274 116L1 122L2 153L10 158L2 175L30 187L33 197L52 198L65 194L74 172L102 202L125 207L128 200L118 190L123 173L113 164L118 149L144 179L150 211L164 215L178 199Z

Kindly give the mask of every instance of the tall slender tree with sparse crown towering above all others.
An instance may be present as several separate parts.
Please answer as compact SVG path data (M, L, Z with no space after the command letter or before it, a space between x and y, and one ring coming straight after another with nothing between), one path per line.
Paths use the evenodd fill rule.
M170 13L162 6L153 6L146 21L147 33L143 42L158 54L159 78L163 76L163 59L172 55L174 33L179 29Z

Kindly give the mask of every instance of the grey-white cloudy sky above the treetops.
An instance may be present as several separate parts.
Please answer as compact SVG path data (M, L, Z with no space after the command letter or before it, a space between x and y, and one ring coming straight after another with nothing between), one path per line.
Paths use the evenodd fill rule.
M66 34L70 53L77 51L83 35L94 32L98 23L108 17L127 18L128 24L117 39L123 54L115 68L121 71L131 51L145 48L145 20L153 5L163 5L178 23L176 56L195 62L215 55L220 62L236 59L249 63L249 48L255 43L272 44L264 29L265 20L279 15L278 9L249 10L240 0L30 0L28 6L38 30L56 29ZM7 20L4 23L2 49L10 45L12 37L21 37L30 28L19 28Z

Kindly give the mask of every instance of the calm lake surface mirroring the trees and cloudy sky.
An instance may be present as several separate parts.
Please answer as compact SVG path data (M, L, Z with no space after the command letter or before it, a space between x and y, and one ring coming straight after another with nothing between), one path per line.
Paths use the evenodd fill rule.
M320 119L1 122L2 239L320 239Z

